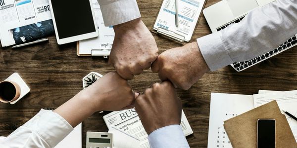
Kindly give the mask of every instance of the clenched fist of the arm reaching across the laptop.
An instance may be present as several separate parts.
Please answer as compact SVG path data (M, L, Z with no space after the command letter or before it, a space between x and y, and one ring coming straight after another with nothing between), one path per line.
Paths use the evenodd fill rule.
M176 87L187 90L209 71L197 42L172 48L160 54L152 64L152 72L160 79L170 80Z

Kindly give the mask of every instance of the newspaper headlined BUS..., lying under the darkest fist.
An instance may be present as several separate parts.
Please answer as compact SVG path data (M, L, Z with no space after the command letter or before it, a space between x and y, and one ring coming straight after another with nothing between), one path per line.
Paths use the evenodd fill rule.
M139 148L150 148L148 143L148 134L143 127L140 118L135 109L113 111L103 116L103 119L110 129L111 126L130 134L131 136L140 139ZM182 111L181 127L185 136L193 134L192 128L186 118L184 111Z

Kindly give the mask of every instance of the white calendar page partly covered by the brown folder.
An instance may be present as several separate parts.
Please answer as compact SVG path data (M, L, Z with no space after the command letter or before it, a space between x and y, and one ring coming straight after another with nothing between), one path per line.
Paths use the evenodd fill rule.
M224 121L252 109L252 95L211 93L207 147L232 148Z

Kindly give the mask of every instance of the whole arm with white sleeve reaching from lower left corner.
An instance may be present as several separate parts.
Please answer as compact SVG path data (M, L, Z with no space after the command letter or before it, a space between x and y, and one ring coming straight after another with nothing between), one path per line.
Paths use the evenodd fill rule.
M3 139L0 148L54 148L94 112L132 108L138 95L127 80L116 72L108 73L56 110L41 110Z

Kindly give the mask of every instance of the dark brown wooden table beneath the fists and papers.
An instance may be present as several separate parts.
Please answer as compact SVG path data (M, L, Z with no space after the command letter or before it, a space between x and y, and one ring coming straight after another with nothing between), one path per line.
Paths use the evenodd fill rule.
M208 7L219 0L207 0ZM142 20L151 29L161 0L138 0ZM210 34L203 15L200 17L195 38ZM164 37L153 34L160 53L180 46ZM190 90L178 89L183 110L194 131L187 137L191 148L206 148L210 92L255 94L258 89L297 89L297 47L257 64L244 72L236 72L230 66L205 74ZM7 136L41 108L57 108L82 89L82 78L90 72L107 74L114 71L102 58L78 57L76 44L58 45L54 36L49 42L19 49L0 48L0 80L17 72L31 88L31 92L15 105L0 103L0 136ZM157 74L150 70L129 81L135 91L143 92L154 82ZM107 132L102 119L106 113L95 113L83 122L83 148L86 132Z

